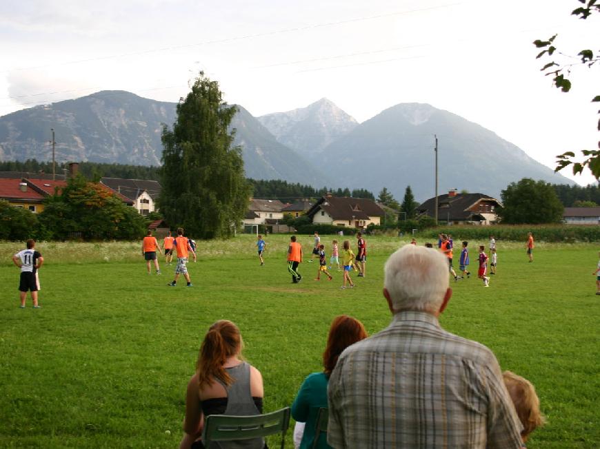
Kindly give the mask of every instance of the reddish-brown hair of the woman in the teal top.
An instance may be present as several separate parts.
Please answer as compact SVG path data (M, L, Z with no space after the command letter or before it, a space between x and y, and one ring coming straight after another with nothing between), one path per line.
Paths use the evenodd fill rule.
M348 315L335 317L329 328L327 347L323 353L323 371L329 377L344 349L368 337L365 326Z

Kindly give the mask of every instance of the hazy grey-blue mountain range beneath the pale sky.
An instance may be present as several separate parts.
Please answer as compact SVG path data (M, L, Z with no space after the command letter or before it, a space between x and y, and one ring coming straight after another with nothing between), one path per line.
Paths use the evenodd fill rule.
M401 103L360 124L326 98L258 118L238 109L231 128L249 178L375 195L387 187L398 200L410 185L426 200L434 195L437 135L439 194L457 188L499 197L523 177L572 184L494 132L428 104ZM124 91L23 109L0 117L0 160L51 160L53 128L59 162L159 165L163 124L176 116L177 103Z

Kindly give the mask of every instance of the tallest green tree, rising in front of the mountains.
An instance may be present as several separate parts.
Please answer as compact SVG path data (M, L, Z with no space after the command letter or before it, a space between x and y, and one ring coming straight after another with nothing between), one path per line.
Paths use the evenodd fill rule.
M172 131L163 127L162 191L158 205L172 227L197 238L232 236L248 207L241 148L228 132L237 108L223 101L203 72L177 105Z

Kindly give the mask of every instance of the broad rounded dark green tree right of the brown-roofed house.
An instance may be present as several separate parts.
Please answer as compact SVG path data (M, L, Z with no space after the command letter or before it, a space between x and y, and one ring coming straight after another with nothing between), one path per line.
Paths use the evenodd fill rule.
M523 178L502 191L503 208L499 216L509 225L560 223L564 207L552 185L542 180Z

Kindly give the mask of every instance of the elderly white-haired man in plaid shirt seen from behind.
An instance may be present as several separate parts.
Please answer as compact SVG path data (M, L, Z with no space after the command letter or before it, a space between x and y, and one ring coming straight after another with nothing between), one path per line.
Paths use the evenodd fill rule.
M521 424L486 346L444 331L446 258L408 244L390 256L390 326L348 347L328 387L334 448L521 448Z

